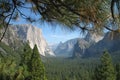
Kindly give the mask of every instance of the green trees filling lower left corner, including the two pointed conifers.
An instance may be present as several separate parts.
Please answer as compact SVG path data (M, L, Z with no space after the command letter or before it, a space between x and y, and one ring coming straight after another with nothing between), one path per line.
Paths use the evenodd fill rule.
M37 46L32 50L26 43L19 55L5 44L0 44L0 48L0 80L46 80Z

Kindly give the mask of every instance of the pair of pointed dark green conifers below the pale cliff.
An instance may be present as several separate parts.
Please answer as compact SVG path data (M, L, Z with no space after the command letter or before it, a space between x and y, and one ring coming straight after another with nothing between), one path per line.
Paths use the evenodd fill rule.
M32 50L27 43L25 44L21 65L20 77L25 76L24 79L29 80L46 80L44 66L36 45Z

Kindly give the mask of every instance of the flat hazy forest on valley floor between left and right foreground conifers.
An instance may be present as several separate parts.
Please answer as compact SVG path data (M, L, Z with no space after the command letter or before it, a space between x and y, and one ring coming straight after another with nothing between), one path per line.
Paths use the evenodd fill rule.
M93 80L97 59L47 58L44 60L48 80Z

